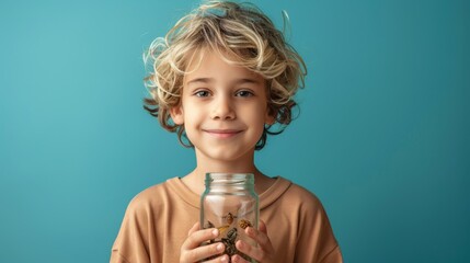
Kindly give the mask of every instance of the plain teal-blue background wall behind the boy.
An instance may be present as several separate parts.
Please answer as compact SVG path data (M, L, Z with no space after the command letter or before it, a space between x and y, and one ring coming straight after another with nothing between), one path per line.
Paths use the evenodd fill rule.
M470 2L254 1L309 76L259 167L314 192L347 262L470 262ZM197 1L0 3L0 262L107 262L192 150L141 106L141 54Z

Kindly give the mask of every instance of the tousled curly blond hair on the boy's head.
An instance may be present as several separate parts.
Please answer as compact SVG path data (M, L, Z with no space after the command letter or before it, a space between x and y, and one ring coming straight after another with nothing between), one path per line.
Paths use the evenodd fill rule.
M285 16L286 19L286 16ZM279 124L265 125L255 149L266 144L267 134L280 134L293 119L294 95L305 87L307 68L299 54L273 22L254 4L209 1L182 18L164 37L156 38L144 54L149 68L145 84L151 98L144 107L185 145L184 126L173 123L170 108L179 106L186 68L204 48L226 61L260 73L266 80L268 113ZM187 138L186 138L187 140Z

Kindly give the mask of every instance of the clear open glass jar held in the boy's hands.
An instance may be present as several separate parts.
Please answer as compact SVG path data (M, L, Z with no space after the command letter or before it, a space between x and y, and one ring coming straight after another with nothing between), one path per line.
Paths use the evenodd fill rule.
M200 197L200 226L219 229L219 237L204 244L222 242L225 254L239 254L254 262L236 248L237 240L255 245L244 233L247 227L257 229L259 197L251 173L207 173L206 191Z

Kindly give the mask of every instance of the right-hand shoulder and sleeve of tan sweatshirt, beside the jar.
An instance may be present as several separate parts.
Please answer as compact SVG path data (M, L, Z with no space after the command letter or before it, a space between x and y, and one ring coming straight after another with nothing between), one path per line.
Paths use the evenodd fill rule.
M273 187L275 197L274 194L270 196L273 202L265 207L261 218L270 229L286 229L285 240L273 238L275 245L282 250L295 243L290 259L295 256L296 262L330 262L321 259L335 250L337 242L317 195L283 178L277 178Z

